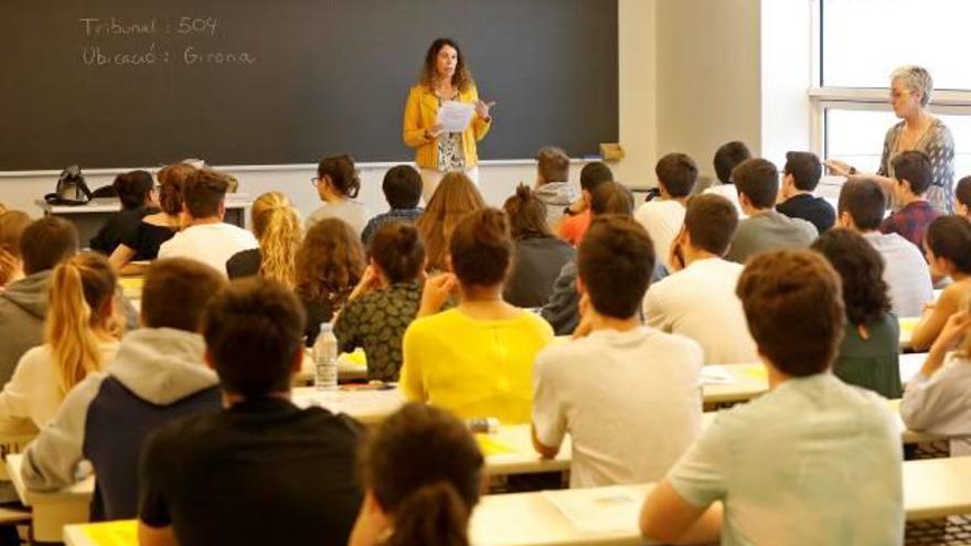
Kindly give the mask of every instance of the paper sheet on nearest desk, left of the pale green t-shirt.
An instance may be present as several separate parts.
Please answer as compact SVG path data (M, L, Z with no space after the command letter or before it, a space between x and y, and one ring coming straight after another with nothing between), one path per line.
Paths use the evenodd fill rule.
M584 533L636 529L643 502L642 493L622 485L544 491L541 494Z

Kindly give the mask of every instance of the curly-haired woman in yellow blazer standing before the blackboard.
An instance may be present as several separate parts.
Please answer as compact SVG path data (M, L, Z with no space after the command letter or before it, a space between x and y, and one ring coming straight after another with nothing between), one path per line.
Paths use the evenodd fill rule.
M447 100L476 105L476 116L465 131L442 132L438 108ZM479 182L476 142L489 132L492 125L489 108L493 104L479 99L458 44L448 38L433 42L425 55L422 81L408 93L403 124L405 143L415 148L425 203L431 199L446 172L462 171L473 182Z

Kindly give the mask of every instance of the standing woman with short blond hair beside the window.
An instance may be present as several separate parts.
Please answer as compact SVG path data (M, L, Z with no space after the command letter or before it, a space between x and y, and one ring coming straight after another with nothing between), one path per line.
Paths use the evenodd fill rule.
M905 151L921 151L930 158L932 179L925 195L941 214L953 211L954 138L948 126L928 110L933 78L927 68L901 66L890 74L890 106L903 120L890 127L884 137L877 180L893 194L893 159ZM834 173L843 176L864 175L843 161L826 161ZM872 176L869 174L865 174Z

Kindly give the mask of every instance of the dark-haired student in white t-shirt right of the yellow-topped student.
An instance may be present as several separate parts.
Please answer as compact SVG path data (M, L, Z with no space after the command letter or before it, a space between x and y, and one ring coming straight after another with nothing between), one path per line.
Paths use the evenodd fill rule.
M630 217L595 218L578 253L581 335L533 368L533 445L555 457L573 442L570 486L661 479L701 427L702 351L640 325L654 251Z

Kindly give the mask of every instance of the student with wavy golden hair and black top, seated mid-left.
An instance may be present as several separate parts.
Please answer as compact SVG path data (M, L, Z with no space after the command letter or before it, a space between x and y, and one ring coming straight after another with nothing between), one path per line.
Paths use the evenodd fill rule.
M303 238L300 213L282 193L267 192L256 197L249 214L259 248L233 255L226 261L226 272L231 279L260 276L292 289L297 275L294 261Z

